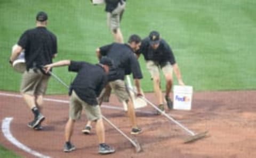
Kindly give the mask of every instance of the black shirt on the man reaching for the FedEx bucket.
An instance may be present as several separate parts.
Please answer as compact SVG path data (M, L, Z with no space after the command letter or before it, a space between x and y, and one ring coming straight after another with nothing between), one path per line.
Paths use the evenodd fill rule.
M168 43L160 39L159 46L154 50L149 43L149 38L145 38L141 42L140 50L137 54L143 54L145 60L153 60L159 64L170 62L171 65L175 64L175 57Z

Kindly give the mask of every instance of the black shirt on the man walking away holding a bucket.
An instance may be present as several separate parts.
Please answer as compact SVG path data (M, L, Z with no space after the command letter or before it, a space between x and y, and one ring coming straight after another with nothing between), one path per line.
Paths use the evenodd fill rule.
M53 55L57 54L57 38L45 27L25 31L18 45L25 49L27 69L51 64Z

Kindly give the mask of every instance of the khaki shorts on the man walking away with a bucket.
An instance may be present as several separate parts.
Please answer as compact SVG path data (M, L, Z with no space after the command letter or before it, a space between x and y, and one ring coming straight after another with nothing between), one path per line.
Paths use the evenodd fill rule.
M20 92L30 95L44 95L50 76L44 75L39 69L25 71L22 75Z

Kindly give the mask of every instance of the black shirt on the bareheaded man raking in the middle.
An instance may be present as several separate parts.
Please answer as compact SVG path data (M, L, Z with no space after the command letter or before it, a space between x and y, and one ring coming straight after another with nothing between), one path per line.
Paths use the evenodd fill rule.
M113 60L114 66L110 69L109 81L124 80L125 75L132 73L133 78L141 79L140 64L129 45L112 43L100 47L100 54Z

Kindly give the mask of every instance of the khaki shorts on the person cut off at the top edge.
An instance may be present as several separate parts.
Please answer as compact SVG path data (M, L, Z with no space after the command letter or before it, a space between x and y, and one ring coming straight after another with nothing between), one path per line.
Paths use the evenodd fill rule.
M120 22L125 9L125 2L118 3L118 6L111 13L107 12L107 24L111 30L116 30L120 27Z

